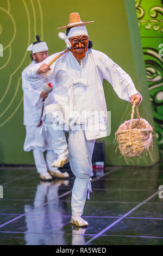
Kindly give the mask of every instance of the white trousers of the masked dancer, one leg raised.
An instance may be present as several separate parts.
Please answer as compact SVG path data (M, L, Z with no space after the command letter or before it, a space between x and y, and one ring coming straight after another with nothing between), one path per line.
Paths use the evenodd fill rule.
M70 158L70 167L76 176L72 189L71 208L72 216L81 216L83 214L87 190L90 191L90 177L92 172L92 154L95 145L95 139L87 140L85 131L69 130L68 145L63 130L54 129L58 123L58 117L54 115L57 109L62 109L60 105L51 104L45 108L42 121L46 125L48 133L51 135L54 153L59 156L68 156ZM63 113L64 115L65 113ZM82 126L81 126L82 127ZM56 128L56 126L55 126Z

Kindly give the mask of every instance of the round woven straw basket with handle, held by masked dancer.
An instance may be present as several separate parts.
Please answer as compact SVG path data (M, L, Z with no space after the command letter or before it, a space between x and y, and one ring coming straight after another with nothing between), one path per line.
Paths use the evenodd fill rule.
M133 119L135 106L137 119ZM121 154L124 157L140 156L151 145L152 132L152 126L145 119L140 118L138 106L134 101L131 119L121 124L115 133Z

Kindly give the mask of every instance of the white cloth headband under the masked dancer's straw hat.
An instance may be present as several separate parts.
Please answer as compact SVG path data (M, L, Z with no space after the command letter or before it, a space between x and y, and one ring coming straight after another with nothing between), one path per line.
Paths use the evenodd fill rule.
M72 27L70 29L70 32L68 35L65 33L58 33L58 36L60 39L64 40L66 42L66 47L71 48L71 42L68 40L68 38L72 38L73 36L78 36L78 35L87 35L87 30L85 26L77 26L77 27Z

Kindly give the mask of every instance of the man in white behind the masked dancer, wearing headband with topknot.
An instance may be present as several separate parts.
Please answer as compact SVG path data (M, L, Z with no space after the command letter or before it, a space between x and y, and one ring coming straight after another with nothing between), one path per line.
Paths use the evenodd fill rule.
M52 162L57 159L57 155L54 154L52 148L51 138L46 136L45 131L41 130L41 112L43 105L47 106L54 102L52 94L48 94L43 91L42 83L33 84L30 86L26 80L26 70L34 66L36 63L42 62L42 60L48 57L48 47L46 42L40 41L39 36L36 36L37 41L31 44L27 51L32 51L32 63L27 66L22 72L22 88L24 97L24 125L26 125L26 139L24 142L24 151L33 150L33 156L37 172L40 174L41 180L52 180L52 178L67 178L69 174L67 172L61 173L60 170L55 167L52 168ZM40 123L40 125L39 125ZM46 161L43 156L43 152L46 151Z

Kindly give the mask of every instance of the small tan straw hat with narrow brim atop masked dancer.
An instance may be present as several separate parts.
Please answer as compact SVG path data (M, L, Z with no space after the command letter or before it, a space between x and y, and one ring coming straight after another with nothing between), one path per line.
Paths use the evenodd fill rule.
M89 23L92 23L94 21L87 21L87 22L82 22L80 19L80 15L78 13L71 13L69 16L69 23L67 26L64 27L60 27L57 29L61 29L61 28L72 28L72 27L76 27L76 26L83 26Z

